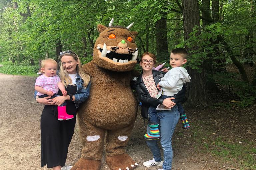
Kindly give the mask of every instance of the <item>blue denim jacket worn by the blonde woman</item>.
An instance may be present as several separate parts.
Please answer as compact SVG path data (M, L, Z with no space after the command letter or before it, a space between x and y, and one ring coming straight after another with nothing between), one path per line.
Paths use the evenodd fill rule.
M90 95L90 88L91 88L91 81L89 81L86 88L83 88L84 81L82 78L77 74L76 78L76 86L77 86L77 92L75 95L75 101L73 101L76 105L76 108L79 107L80 103L83 103ZM34 93L34 98L36 98L37 91Z

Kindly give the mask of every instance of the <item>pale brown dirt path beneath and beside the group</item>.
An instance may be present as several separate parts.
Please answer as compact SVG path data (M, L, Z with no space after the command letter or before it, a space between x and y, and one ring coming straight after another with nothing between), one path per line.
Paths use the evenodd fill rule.
M40 167L40 116L43 106L36 103L33 98L34 82L36 77L6 75L0 73L0 167L4 170L38 170ZM140 112L140 111L139 111ZM179 123L180 125L180 123ZM173 170L204 170L209 162L193 159L191 154L200 157L201 153L185 153L179 148L175 130L173 145ZM146 168L142 163L152 159L152 154L146 145L143 134L145 127L138 113L127 152L140 165L136 170L157 170L160 167ZM178 145L178 146L177 146ZM78 125L69 147L67 164L73 165L81 154ZM189 152L189 149L186 151ZM207 159L211 160L211 156ZM199 163L198 163L199 162ZM219 168L214 168L219 169ZM102 170L108 170L105 157L102 160Z

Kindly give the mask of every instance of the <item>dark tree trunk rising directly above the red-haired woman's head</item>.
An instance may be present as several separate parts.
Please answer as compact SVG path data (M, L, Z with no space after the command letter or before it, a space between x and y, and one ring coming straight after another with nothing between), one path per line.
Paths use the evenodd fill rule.
M163 2L167 6L167 1ZM166 57L168 54L167 40L167 12L161 12L161 19L156 22L156 54L157 57Z

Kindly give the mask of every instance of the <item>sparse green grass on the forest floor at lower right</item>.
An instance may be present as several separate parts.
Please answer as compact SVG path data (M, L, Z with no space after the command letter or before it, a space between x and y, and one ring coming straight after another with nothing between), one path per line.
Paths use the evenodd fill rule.
M239 143L222 133L214 135L215 131L206 127L205 122L199 122L193 126L191 131L194 140L193 145L199 152L208 152L219 162L237 165L236 168L241 170L250 169L256 163L255 142L245 139L242 143ZM252 167L252 170L256 170L256 165Z

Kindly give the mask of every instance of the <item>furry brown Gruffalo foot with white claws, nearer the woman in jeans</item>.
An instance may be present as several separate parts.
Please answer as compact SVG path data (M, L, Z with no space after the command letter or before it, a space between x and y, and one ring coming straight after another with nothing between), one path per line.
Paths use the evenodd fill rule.
M107 156L106 162L111 170L132 170L138 166L138 164L134 162L134 160L126 153L115 156Z

